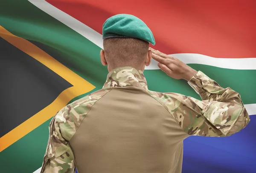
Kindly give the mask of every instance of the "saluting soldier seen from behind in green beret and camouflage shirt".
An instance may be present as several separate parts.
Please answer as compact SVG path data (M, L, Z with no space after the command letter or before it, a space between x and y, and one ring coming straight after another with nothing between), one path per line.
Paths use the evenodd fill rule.
M59 111L50 122L41 173L181 173L183 140L230 136L250 118L239 93L201 71L149 48L151 30L118 14L103 24L103 88ZM174 79L186 79L201 100L148 90L151 57Z

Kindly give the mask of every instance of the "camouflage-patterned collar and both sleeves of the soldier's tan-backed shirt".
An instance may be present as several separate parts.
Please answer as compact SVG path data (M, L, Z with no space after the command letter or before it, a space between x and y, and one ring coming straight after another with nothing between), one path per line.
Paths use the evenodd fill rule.
M113 69L101 90L67 105L53 117L41 173L74 173L75 161L70 139L92 106L114 87L136 85L143 88L169 111L187 136L230 136L250 122L236 91L221 88L201 71L188 83L202 101L177 93L149 91L143 72L133 67Z

